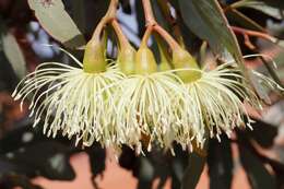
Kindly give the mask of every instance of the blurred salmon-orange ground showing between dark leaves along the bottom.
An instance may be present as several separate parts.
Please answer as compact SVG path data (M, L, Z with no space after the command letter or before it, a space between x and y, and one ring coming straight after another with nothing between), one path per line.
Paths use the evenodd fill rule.
M94 189L91 181L91 173L88 166L88 157L85 154L79 154L71 158L71 164L76 172L76 179L73 181L51 181L45 178L34 179L35 184L39 184L45 189ZM233 188L249 189L248 180L244 169L240 166L235 167L235 174L233 179ZM203 174L199 180L197 189L208 189L209 178L208 168L205 167ZM103 178L96 179L100 189L134 189L137 186L137 179L131 175L130 172L119 167L116 160L111 158L107 161L106 172ZM170 188L170 180L167 181L165 189Z

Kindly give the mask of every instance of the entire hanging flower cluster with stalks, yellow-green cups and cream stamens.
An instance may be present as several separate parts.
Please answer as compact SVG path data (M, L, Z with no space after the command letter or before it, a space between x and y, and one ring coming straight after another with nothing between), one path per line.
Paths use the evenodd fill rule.
M245 118L249 125L244 103L259 108L260 99L237 63L201 69L155 22L147 24L134 49L110 16L114 9L109 10L85 47L83 63L69 54L79 68L46 62L20 82L13 96L22 103L32 97L34 126L43 125L48 135L74 137L86 146L126 144L140 153L143 147L150 151L153 143L170 149L174 141L184 149L203 147L209 137L220 138L223 132L229 137ZM106 58L107 24L118 39L118 56L111 61ZM146 45L152 34L159 48L158 63Z

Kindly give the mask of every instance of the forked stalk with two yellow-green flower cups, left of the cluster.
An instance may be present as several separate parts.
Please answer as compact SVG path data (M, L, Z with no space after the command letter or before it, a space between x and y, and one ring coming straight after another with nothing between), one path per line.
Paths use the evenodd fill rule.
M83 64L84 70L88 73L106 71L107 62L105 61L105 45L102 42L100 35L107 24L113 26L118 38L120 49L118 66L126 72L126 74L133 72L134 49L131 47L116 19L117 7L118 0L111 0L105 16L98 23L92 38L86 45Z

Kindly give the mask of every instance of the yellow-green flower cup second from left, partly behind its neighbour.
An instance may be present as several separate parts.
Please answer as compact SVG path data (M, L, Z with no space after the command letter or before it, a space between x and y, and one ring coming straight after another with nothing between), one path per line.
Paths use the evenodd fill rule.
M118 54L118 67L123 73L134 73L135 52L135 49L130 45L120 49Z

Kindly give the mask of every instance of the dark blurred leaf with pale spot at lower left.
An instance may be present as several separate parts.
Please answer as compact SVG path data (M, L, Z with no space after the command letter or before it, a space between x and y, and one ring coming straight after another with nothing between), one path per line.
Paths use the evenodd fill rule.
M0 158L7 157L17 167L28 167L35 175L52 180L73 180L75 173L69 162L68 151L69 146L59 142L44 141L0 155Z

